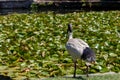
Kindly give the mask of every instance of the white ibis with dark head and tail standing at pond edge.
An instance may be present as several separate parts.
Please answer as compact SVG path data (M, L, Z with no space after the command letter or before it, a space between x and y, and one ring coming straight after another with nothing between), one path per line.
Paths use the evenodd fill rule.
M79 38L73 38L73 29L72 24L68 24L68 41L66 42L66 49L68 53L71 55L73 63L74 63L74 74L73 77L76 77L76 63L77 60L83 60L86 64L86 76L88 75L88 69L91 64L96 62L95 52L89 47L89 45Z

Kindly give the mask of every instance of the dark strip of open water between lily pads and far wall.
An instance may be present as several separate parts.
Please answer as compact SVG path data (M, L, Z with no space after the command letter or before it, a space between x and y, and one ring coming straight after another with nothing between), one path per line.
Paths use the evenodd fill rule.
M119 5L120 6L120 5ZM7 15L7 14L12 14L12 13L41 13L41 12L49 12L53 11L54 13L71 13L71 12L81 12L81 11L110 11L110 10L120 10L120 7L101 7L101 6L93 6L93 7L81 7L81 6L39 6L37 10L32 10L32 9L0 9L0 15Z

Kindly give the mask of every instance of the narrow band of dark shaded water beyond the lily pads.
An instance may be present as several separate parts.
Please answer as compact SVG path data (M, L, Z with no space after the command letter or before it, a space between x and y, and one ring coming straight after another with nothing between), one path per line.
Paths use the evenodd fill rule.
M7 15L12 13L32 13L32 12L49 12L53 11L54 13L71 13L71 12L81 12L81 11L110 11L110 10L120 10L120 8L98 8L98 7L85 7L85 8L53 8L53 7L40 7L39 10L31 9L0 9L0 15Z

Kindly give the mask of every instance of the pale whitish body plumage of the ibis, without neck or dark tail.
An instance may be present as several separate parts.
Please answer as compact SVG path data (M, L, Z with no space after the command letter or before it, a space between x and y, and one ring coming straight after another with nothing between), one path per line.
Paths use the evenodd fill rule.
M88 44L77 38L69 39L66 43L66 48L73 60L80 59L86 47L89 47Z

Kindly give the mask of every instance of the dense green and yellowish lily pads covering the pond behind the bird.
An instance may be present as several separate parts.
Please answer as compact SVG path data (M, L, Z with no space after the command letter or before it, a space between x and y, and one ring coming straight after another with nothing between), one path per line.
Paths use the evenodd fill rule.
M96 53L90 73L120 72L120 11L91 11L0 16L0 74L13 79L72 74L65 49L68 23L73 24L74 37ZM77 74L85 73L84 65L78 61Z

